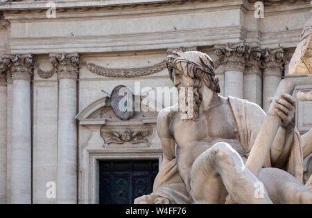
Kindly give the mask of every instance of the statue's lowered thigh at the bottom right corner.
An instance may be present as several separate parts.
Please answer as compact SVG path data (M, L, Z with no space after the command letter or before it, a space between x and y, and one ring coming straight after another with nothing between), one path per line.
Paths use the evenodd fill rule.
M284 170L263 168L259 179L273 203L312 203L312 192Z

